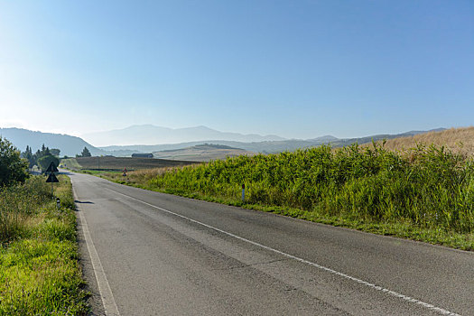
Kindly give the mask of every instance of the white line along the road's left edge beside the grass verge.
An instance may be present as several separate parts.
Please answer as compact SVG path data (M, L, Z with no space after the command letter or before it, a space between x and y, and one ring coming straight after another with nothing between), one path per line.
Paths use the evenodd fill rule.
M74 197L77 200L78 195L72 188L74 193ZM77 208L76 208L77 209ZM110 289L110 285L107 281L107 275L102 267L102 263L100 262L100 258L98 257L98 251L96 246L94 246L94 242L90 237L90 232L88 231L88 222L82 214L82 210L78 211L80 224L82 227L82 232L84 233L84 239L86 239L86 246L88 247L88 256L90 256L90 262L92 264L92 270L94 270L94 274L96 275L96 281L98 283L98 293L100 298L102 299L102 304L104 305L104 310L106 311L107 316L120 316L118 309L116 307L116 300L114 299L114 294Z

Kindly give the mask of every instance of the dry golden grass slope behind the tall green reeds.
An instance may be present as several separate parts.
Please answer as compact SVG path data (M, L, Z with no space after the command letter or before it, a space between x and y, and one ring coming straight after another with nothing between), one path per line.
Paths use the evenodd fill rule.
M417 144L444 146L452 153L472 157L474 156L474 126L389 139L386 141L385 147L389 150L404 152L416 147Z

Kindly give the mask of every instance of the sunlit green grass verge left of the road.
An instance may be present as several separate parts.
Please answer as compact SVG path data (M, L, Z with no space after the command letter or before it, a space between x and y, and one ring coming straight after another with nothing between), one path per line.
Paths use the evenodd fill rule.
M70 180L41 176L0 191L0 315L86 315Z

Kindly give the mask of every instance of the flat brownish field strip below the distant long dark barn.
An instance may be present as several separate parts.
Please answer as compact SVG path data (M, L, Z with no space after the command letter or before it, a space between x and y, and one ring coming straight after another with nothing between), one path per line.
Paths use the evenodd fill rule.
M177 167L193 164L178 160L132 157L79 157L61 160L62 165L76 170L129 171L139 169Z

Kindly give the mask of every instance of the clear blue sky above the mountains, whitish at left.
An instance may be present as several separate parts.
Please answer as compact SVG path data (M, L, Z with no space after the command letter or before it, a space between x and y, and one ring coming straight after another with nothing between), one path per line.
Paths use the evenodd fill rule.
M0 0L0 127L467 126L474 2Z

